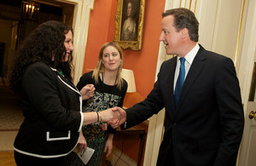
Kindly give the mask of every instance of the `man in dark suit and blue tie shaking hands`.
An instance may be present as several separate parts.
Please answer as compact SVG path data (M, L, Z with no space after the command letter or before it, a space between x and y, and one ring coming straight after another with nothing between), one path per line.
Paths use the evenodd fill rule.
M163 62L148 97L122 113L121 127L128 129L165 107L158 166L236 165L244 114L233 61L197 43L199 23L189 9L170 9L162 16L160 41L166 54L177 56Z

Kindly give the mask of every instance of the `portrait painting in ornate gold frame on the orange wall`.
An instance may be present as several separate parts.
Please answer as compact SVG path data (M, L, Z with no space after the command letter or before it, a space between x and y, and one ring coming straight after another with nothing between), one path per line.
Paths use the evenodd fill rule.
M122 49L142 49L145 0L118 0L113 41Z

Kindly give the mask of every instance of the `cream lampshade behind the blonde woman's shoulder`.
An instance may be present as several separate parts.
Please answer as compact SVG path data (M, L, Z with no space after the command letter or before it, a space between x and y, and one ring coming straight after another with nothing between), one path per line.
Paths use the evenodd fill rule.
M121 76L125 79L128 83L127 93L134 93L136 92L136 85L133 71L129 69L122 69Z

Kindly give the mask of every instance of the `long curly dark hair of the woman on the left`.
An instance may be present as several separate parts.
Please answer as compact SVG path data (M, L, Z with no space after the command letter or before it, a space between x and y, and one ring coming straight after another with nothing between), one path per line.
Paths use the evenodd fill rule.
M26 68L35 62L42 61L55 69L60 69L65 76L72 79L73 56L65 62L67 50L64 46L65 35L73 29L66 24L49 20L39 25L26 37L15 54L13 70L9 77L9 88L20 93L21 78Z

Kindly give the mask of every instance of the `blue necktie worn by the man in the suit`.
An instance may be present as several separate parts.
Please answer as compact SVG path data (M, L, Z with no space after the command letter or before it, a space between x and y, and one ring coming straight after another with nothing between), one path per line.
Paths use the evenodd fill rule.
M179 74L177 77L177 83L176 83L175 94L174 94L175 107L177 106L177 101L181 93L181 90L183 88L183 82L185 77L185 66L184 66L185 58L180 58L179 60L180 60Z

